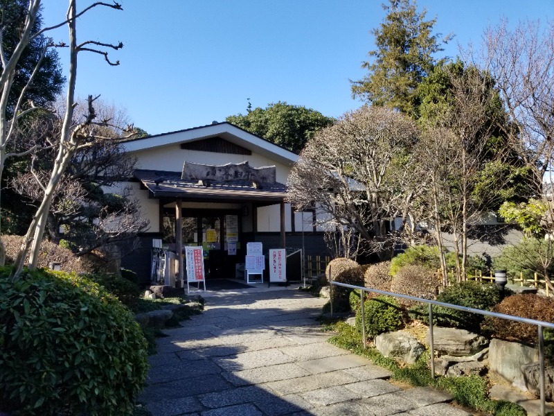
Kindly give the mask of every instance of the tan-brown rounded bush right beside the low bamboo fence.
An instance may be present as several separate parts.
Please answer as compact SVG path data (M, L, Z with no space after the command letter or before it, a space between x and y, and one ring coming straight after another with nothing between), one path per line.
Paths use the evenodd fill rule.
M440 286L439 279L433 270L425 266L402 266L393 276L391 292L423 299L434 299L438 286ZM399 299L398 302L404 306L412 306L416 303L404 299Z

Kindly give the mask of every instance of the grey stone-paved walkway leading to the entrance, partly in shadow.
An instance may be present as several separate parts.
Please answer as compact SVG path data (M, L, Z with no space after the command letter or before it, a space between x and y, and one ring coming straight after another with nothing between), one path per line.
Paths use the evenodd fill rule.
M204 296L204 294L203 294ZM326 342L325 300L289 288L206 293L202 315L169 329L139 401L154 416L463 416L431 388Z

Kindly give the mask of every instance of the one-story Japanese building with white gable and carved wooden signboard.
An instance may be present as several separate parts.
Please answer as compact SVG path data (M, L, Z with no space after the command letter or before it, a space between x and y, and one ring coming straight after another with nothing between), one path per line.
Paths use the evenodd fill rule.
M206 279L235 277L249 242L261 242L264 252L328 252L315 211L296 212L285 202L295 153L226 122L124 146L137 160L126 185L150 220L139 250L122 260L139 281L161 281L163 275L170 284L175 275L179 281L175 253L186 245L204 248Z

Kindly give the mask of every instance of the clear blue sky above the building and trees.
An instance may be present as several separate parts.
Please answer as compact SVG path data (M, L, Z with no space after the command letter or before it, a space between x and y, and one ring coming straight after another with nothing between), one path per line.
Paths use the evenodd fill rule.
M119 1L123 11L96 8L78 22L80 42L125 47L110 53L118 67L80 55L77 92L125 108L152 135L244 114L247 98L253 107L286 101L335 117L359 107L349 80L364 76L370 30L385 15L379 0ZM64 17L66 1L44 3L45 25ZM436 32L456 35L445 46L452 58L502 17L512 25L554 18L554 0L418 1L424 8ZM66 29L51 36L65 40ZM60 58L66 64L63 51Z

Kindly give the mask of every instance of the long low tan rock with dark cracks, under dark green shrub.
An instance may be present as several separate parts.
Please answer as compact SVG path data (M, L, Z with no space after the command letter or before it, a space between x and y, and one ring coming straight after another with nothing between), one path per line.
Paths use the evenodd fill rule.
M425 340L429 345L429 329ZM434 327L433 340L435 352L455 357L473 355L488 345L487 338L457 328Z

